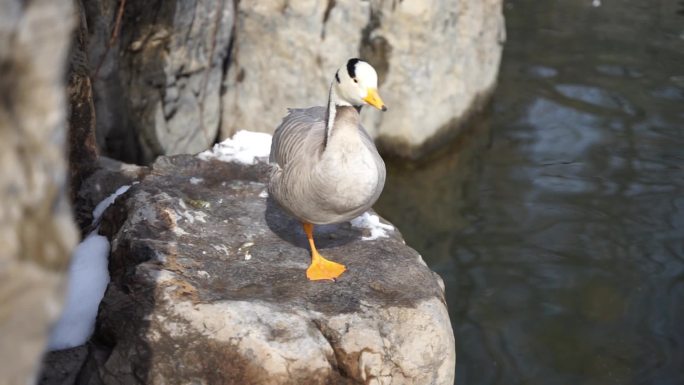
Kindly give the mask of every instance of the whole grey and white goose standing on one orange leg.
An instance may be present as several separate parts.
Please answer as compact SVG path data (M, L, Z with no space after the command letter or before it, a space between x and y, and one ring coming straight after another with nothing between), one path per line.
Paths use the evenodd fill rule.
M313 226L368 210L385 185L385 164L359 123L361 106L387 110L370 64L350 59L335 72L327 107L290 109L273 134L270 195L299 219L311 247L310 280L335 279L344 265L316 250Z

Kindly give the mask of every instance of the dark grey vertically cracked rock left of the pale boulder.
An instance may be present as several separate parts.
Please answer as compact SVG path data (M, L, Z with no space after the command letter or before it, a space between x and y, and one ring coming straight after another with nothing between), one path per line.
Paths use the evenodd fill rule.
M128 0L111 39L121 3L84 3L99 146L134 163L210 147L219 129L233 1Z

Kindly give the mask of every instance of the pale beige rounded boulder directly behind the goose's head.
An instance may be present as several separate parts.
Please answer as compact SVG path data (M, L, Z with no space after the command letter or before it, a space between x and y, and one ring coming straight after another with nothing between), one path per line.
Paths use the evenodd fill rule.
M257 0L238 3L222 137L272 132L287 107L324 105L334 71L360 56L389 111L365 127L414 156L461 125L494 87L505 39L501 0Z

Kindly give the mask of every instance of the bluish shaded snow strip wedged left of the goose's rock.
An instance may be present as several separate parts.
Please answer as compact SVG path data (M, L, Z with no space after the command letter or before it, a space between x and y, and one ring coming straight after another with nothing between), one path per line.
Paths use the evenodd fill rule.
M93 224L116 198L128 191L130 185L119 187L112 195L98 203L93 210ZM97 308L109 284L109 241L98 234L99 226L74 249L69 265L64 309L53 326L48 350L62 350L83 345L95 329Z

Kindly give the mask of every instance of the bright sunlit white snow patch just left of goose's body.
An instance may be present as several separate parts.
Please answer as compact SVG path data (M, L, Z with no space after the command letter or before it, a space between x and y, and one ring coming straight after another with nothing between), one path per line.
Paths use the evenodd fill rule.
M256 164L268 160L271 153L271 135L263 132L238 131L232 138L215 144L211 150L197 155L202 160L218 159L223 162Z

